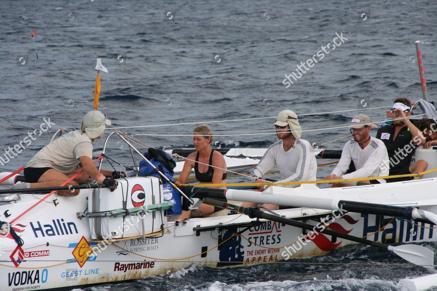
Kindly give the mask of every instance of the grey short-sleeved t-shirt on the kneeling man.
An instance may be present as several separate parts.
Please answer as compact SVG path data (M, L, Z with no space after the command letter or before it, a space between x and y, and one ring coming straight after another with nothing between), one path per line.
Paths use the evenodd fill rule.
M81 130L70 131L43 147L26 168L53 168L68 174L80 163L80 157L93 157L93 144Z

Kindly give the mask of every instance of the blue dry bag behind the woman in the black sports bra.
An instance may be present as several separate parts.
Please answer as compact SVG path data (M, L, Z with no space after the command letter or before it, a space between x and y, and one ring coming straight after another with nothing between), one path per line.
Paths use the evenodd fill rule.
M155 149L153 147L149 148L147 153L143 154L158 170L161 171L167 178L173 181L173 169L176 167L176 162L170 154L167 154L161 149ZM146 161L141 160L139 162L139 171L158 178L162 178L159 173L154 171L154 168L149 165ZM144 176L140 174L140 176ZM173 202L173 208L165 210L165 216L176 216L182 213L182 203L180 202L180 194L177 189L166 180L162 179L163 184L163 196L164 202Z

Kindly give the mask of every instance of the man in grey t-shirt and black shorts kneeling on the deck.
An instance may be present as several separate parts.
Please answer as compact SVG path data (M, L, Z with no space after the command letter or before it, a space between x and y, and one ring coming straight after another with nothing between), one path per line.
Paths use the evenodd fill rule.
M92 161L92 142L103 137L106 125L111 125L106 115L97 110L88 112L83 117L80 130L72 130L60 136L31 158L24 168L24 178L28 183L18 182L11 188L59 186L82 169L84 170L82 174L66 185L79 185L91 177L112 189L117 188L116 181L106 178L113 176L113 172L106 170L99 172ZM58 191L58 194L76 196L79 190L63 190Z

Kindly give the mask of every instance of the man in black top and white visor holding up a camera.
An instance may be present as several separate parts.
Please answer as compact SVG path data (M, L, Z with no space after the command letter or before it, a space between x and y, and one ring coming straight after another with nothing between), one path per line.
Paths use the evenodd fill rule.
M410 165L411 157L416 147L425 144L426 139L420 130L406 118L411 116L411 102L406 98L398 98L392 106L396 117L392 117L391 125L378 129L376 137L382 140L387 147L390 158L390 176L406 175L426 171L427 161L419 160ZM396 119L400 118L400 119ZM422 175L419 176L422 178ZM388 178L388 182L411 180L413 177Z

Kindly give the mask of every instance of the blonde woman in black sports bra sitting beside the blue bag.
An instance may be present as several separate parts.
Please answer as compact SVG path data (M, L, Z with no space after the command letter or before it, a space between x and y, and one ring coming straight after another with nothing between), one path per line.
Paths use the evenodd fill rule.
M194 128L193 144L194 147L196 147L196 151L188 155L187 160L185 160L184 163L184 168L182 169L176 183L185 184L193 168L196 179L201 184L226 183L227 168L225 158L220 152L214 151L210 147L213 139L214 137L212 136L211 128L208 125L202 124ZM201 205L202 215L208 215L218 210L221 209L215 209L214 206L207 204ZM199 209L194 210L194 213L199 213ZM183 211L177 219L184 219L189 216L189 211Z

